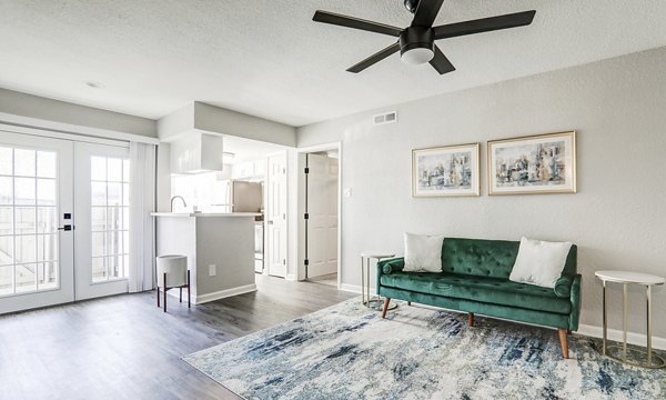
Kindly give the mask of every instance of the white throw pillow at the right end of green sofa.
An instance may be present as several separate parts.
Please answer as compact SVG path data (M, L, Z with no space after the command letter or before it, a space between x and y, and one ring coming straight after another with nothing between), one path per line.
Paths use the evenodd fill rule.
M555 288L571 248L572 242L547 242L523 237L508 279L514 282Z

